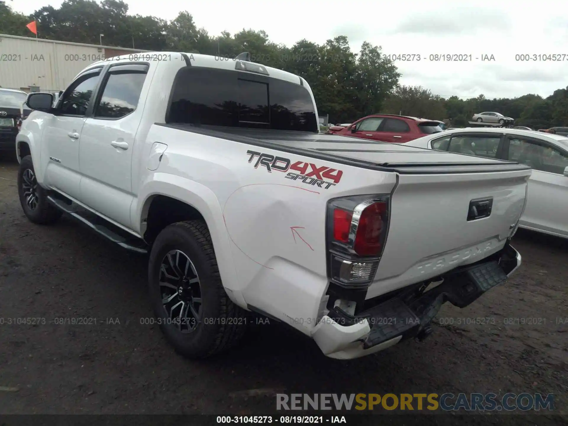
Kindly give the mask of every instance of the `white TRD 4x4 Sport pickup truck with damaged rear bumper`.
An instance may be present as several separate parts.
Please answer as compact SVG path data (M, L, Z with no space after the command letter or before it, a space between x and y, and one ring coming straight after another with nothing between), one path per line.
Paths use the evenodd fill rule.
M31 94L17 136L24 213L149 253L156 321L185 356L236 343L247 311L364 356L520 265L531 169L320 134L308 83L247 54L115 57L52 102Z

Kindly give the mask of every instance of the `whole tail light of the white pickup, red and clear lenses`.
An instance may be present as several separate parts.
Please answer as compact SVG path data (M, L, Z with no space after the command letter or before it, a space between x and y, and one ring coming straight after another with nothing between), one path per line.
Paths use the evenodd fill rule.
M344 287L373 281L389 229L389 195L337 198L328 203L329 278Z

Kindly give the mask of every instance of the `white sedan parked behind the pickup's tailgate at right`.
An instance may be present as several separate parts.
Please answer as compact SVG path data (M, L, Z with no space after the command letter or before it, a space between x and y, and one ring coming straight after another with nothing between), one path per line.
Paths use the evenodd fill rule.
M512 128L466 128L420 137L404 145L531 166L520 227L568 238L568 137Z

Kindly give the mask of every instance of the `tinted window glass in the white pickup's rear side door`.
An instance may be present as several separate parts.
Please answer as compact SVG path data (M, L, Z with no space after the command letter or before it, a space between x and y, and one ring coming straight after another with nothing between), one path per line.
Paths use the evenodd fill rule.
M95 117L120 118L136 109L146 74L109 74Z

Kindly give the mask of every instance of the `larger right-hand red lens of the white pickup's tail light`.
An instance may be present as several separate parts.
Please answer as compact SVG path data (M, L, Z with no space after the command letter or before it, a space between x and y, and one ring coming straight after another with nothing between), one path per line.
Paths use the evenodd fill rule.
M359 256L381 254L383 230L386 231L386 202L377 202L361 212L353 249Z

